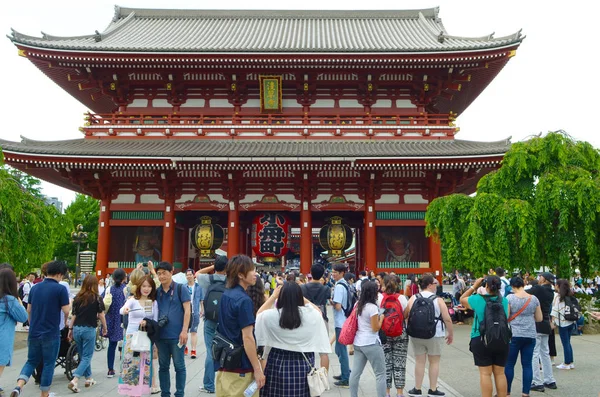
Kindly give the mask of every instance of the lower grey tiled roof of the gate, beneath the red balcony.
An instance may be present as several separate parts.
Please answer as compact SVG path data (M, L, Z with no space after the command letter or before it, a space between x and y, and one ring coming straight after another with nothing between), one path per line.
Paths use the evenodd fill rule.
M463 140L208 140L208 139L75 139L21 142L0 139L0 147L13 153L60 157L133 158L436 158L504 154L510 140L476 142Z

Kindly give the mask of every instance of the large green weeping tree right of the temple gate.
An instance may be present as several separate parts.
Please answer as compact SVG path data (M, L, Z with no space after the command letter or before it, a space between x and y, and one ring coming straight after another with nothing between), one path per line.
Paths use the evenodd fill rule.
M475 196L433 200L425 232L446 268L590 275L600 265L599 172L600 151L563 131L515 143Z

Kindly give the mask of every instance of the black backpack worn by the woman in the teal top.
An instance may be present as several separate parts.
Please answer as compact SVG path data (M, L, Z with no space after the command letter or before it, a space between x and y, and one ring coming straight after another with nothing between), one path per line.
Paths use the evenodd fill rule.
M502 305L502 297L495 300L489 297L485 299L483 320L479 322L479 334L484 346L492 352L504 352L508 350L512 331L508 325L508 318Z

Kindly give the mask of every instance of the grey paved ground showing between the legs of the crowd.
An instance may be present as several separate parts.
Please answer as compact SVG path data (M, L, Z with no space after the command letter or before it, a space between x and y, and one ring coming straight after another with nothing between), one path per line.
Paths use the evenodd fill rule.
M332 317L331 317L332 318ZM477 369L473 366L472 355L469 352L469 330L470 326L455 326L455 342L451 346L446 346L442 355L441 370L440 370L440 390L446 392L448 397L463 396L477 397L480 396L479 390L479 375ZM573 349L575 354L576 370L559 371L555 370L554 375L558 382L558 390L546 390L544 394L532 392L532 396L539 397L559 397L559 396L584 396L596 397L600 396L600 365L598 365L598 357L600 357L600 335L583 335L572 338ZM557 363L562 359L562 346L557 339L557 348L559 356ZM197 360L186 358L187 362L187 396L204 396L198 391L198 386L202 381L204 373L204 354L203 346L198 347L199 357ZM406 390L414 386L414 360L409 351L406 377ZM25 362L27 355L26 349L15 350L13 356L13 366L7 367L0 378L0 384L5 390L10 390L14 379ZM335 354L330 355L331 360L331 375L339 374L339 363ZM350 357L350 365L352 366L352 356ZM106 351L97 352L94 355L94 367L92 368L94 377L98 380L98 384L90 390L82 391L83 396L116 396L117 379L107 379L106 374ZM521 367L517 364L515 368L515 380L513 383L513 396L520 396L521 390ZM330 378L331 380L331 378ZM331 380L332 381L332 380ZM172 380L174 385L174 380ZM374 397L375 396L375 377L371 367L367 365L360 381L361 390L359 396ZM428 387L427 374L425 375L424 388ZM67 379L61 368L57 368L54 376L53 389L57 396L66 396L71 394L67 390ZM23 396L37 396L39 391L31 382L25 387ZM348 389L333 388L324 396L349 396ZM392 392L392 396L394 392ZM208 396L208 395L206 395Z

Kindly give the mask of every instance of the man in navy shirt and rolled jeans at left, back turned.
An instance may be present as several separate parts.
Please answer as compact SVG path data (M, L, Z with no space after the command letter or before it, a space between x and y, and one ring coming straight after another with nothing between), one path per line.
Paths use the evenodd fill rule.
M60 347L60 329L65 325L61 321L61 312L64 318L69 316L69 294L59 284L67 273L67 265L64 262L49 262L45 265L46 278L41 283L34 285L29 292L29 336L27 341L27 362L21 369L17 386L10 394L18 397L29 377L38 364L43 363L42 377L40 379L40 390L42 397L48 396L52 378L54 377L54 365L58 357ZM63 322L61 324L61 322Z

